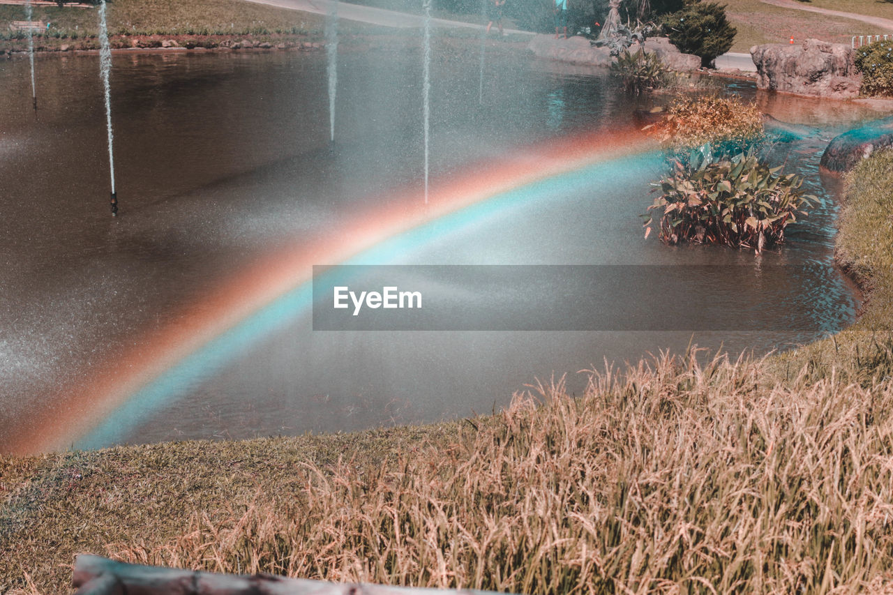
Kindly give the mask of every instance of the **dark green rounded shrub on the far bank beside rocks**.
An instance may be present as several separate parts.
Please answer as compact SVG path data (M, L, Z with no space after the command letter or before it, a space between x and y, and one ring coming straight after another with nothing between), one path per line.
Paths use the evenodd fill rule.
M695 54L702 66L729 51L735 33L725 15L725 4L697 3L663 18L663 32L684 54Z

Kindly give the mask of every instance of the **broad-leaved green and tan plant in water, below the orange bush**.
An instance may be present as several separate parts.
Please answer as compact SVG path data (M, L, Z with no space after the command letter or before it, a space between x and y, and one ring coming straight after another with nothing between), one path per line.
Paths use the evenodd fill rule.
M816 200L794 174L770 168L754 155L739 153L714 161L707 150L674 163L673 172L656 184L661 196L648 207L646 237L658 211L660 238L752 247L757 253L784 240L785 228Z

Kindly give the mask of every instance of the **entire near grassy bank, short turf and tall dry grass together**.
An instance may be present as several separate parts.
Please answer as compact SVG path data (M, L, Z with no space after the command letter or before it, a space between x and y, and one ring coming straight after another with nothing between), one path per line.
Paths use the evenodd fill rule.
M0 457L0 591L74 554L540 592L893 588L893 153L847 180L863 318L772 358L659 357L504 414Z

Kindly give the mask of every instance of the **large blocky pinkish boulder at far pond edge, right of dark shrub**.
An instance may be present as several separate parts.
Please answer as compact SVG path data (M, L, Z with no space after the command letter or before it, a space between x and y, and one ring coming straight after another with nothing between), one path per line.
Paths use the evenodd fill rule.
M859 95L862 74L855 69L850 46L806 39L800 46L753 46L750 55L757 88L832 99Z

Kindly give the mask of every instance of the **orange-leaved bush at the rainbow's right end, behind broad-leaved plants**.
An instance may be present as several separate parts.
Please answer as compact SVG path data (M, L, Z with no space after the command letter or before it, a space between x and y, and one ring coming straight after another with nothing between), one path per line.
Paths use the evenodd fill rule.
M764 140L763 115L738 96L684 97L673 102L660 122L648 128L671 155L687 163L705 147L714 157L746 151Z

